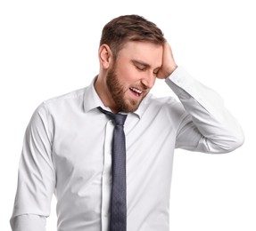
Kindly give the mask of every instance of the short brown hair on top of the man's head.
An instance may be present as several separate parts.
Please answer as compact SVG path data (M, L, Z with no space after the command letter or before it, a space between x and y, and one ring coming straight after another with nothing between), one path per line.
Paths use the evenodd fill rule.
M114 57L128 41L164 44L165 38L161 29L152 21L136 14L120 16L103 27L100 45L109 45Z

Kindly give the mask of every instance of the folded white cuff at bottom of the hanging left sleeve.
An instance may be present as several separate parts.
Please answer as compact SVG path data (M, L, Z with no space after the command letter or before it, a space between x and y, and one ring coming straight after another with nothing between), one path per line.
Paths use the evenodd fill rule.
M12 231L45 231L46 219L34 214L24 214L10 220Z

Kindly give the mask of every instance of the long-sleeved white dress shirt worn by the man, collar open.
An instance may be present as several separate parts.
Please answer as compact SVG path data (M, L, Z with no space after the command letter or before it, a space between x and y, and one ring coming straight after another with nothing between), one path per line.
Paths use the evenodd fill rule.
M148 94L125 123L128 231L169 231L175 148L227 153L244 133L219 95L177 68L166 83L178 95ZM13 231L44 231L57 198L58 231L107 231L113 123L97 107L94 82L46 100L27 128L12 213Z

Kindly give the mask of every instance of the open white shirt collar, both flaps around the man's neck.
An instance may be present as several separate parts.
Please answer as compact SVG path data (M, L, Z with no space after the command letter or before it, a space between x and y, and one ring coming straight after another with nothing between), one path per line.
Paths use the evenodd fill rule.
M97 92L95 91L95 80L97 76L94 77L92 83L87 86L85 97L84 97L84 110L85 112L89 112L92 109L102 107L103 109L110 110L110 108L107 108L103 105L103 101L98 96ZM145 97L147 98L147 96ZM141 118L143 112L145 111L145 104L143 100L139 106L139 108L136 109L135 112L132 112L130 114L134 114L135 116L138 116Z

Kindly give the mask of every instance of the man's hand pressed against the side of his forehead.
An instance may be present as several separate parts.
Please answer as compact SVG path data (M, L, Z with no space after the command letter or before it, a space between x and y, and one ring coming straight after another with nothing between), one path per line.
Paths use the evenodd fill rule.
M160 79L167 78L176 68L178 65L176 64L173 54L168 42L163 44L163 54L162 54L162 64L161 68L157 73L157 77Z

